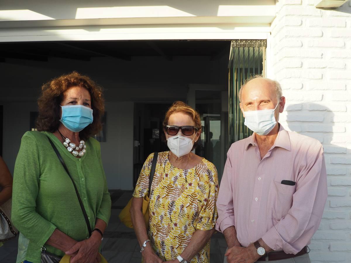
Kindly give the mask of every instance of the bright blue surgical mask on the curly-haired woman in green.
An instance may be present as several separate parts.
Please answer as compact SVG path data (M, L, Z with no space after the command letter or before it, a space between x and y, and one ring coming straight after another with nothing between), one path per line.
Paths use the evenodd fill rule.
M93 110L83 105L61 106L62 117L60 122L64 126L77 133L93 123Z

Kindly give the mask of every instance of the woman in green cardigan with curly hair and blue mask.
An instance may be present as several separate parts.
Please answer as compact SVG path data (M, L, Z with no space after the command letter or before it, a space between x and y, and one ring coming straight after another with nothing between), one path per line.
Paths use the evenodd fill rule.
M100 262L102 235L111 198L102 167L100 144L102 90L77 72L42 86L38 131L21 141L13 180L12 220L20 231L17 263L41 262L41 248L71 263ZM88 216L89 236L73 183L49 143L53 141L71 174Z

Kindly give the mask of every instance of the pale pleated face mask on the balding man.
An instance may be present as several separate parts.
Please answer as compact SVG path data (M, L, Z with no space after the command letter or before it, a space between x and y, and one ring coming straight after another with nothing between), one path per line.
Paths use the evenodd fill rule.
M277 124L274 111L278 107L278 104L274 109L243 111L245 114L244 125L258 135L269 134Z

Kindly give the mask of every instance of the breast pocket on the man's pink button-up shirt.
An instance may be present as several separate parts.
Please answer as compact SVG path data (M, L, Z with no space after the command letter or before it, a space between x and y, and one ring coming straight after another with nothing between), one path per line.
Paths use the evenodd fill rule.
M295 189L296 185L289 186L276 181L271 182L267 200L267 218L272 218L273 225L287 215L292 206Z

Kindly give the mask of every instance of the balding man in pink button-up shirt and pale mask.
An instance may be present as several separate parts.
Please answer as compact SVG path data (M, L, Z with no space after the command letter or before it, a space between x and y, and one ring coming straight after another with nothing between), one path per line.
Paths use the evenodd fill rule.
M228 244L224 262L308 263L327 198L322 144L278 123L285 105L278 82L255 77L239 100L254 134L227 153L216 223Z

